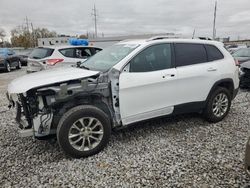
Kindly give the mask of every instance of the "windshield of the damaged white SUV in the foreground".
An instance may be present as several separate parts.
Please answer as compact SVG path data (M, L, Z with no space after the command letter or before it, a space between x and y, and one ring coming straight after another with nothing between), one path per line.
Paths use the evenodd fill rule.
M138 44L115 44L98 52L96 55L83 62L80 67L106 72L138 46Z

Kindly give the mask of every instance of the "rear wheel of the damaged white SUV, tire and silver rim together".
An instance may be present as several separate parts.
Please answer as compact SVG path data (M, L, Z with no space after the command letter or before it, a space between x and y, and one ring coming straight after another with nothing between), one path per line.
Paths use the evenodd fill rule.
M231 107L232 96L226 88L218 87L209 97L203 111L208 122L217 123L227 116ZM216 110L217 109L217 110Z

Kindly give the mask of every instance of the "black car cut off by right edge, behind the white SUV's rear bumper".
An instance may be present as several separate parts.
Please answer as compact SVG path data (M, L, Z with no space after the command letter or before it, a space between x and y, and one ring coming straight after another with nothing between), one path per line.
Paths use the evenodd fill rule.
M250 89L250 61L240 65L240 88Z

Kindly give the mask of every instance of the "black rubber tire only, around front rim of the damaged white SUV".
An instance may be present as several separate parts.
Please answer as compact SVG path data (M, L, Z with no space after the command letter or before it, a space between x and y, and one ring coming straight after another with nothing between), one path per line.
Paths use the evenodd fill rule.
M92 149L88 148L89 149L88 151L80 151L74 148L74 146L72 146L72 144L70 143L70 138L69 138L70 130L72 130L74 123L76 122L79 123L79 119L81 118L94 118L95 120L99 121L99 123L102 125L102 128L103 128L102 138L99 139L99 141L96 141L99 143ZM80 131L79 131L79 134L80 134ZM74 157L74 158L88 157L88 156L99 153L108 144L110 135L111 135L111 124L110 124L110 120L107 114L105 114L99 108L95 106L90 106L90 105L80 105L80 106L76 106L70 109L62 116L57 127L57 140L58 140L60 147L67 155ZM83 141L85 142L86 141L85 136L86 135L84 136L81 135L79 137L84 137ZM88 137L88 141L89 139L90 138ZM85 144L82 144L82 145L83 145L83 148L85 148Z

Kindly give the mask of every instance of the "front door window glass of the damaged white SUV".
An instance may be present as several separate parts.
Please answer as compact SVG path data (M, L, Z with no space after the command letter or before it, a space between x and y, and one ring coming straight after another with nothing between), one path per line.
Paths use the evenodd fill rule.
M150 72L171 68L170 44L157 44L140 52L130 61L130 72Z

